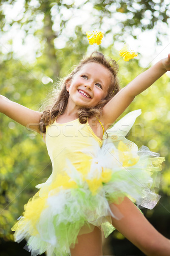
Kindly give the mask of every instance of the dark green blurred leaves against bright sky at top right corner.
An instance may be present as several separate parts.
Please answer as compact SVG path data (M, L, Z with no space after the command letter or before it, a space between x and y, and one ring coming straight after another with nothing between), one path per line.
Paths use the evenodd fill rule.
M98 10L101 21L103 17L113 17L113 12L119 13L119 26L122 29L117 35L114 34L117 39L126 31L129 31L136 38L135 33L133 33L134 29L140 28L141 31L153 29L157 23L168 23L170 17L169 4L162 0L99 0L94 1L94 9ZM159 41L160 34L162 31L158 30L157 41Z

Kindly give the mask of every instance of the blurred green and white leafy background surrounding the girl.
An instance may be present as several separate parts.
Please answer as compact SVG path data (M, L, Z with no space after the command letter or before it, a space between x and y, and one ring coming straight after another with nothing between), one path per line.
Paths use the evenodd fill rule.
M95 47L119 60L125 43L139 53L119 60L121 87L170 52L169 0L0 0L0 94L39 110L59 77L94 51L85 32L105 32ZM165 157L161 199L144 215L170 238L170 76L137 96L126 113L142 109L128 139ZM121 116L121 117L122 117ZM0 114L0 256L31 255L14 243L11 227L38 183L51 174L42 138ZM103 243L104 255L144 255L118 231Z

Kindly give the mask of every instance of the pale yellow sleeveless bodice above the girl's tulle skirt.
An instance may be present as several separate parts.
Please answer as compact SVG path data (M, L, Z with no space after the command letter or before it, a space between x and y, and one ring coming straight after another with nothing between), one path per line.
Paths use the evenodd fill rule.
M84 154L88 149L91 155L96 154L96 149L100 148L102 140L94 134L90 125L81 124L79 119L60 124L54 121L46 129L46 146L55 172L61 173L66 168L66 159L81 171L91 157Z

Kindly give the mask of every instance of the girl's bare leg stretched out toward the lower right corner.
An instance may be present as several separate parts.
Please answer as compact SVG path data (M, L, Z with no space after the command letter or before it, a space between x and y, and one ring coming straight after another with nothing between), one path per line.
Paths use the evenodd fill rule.
M125 198L121 204L111 204L111 210L116 208L123 218L112 218L112 224L147 256L170 255L170 240L162 236L144 217L135 204Z

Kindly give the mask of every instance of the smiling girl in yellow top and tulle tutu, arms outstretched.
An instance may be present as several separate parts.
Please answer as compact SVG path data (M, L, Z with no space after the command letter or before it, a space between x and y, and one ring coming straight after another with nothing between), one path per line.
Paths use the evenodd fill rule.
M152 209L150 190L163 159L136 151L123 136L104 131L167 70L170 54L119 90L117 64L94 52L66 77L59 96L43 113L0 96L0 111L42 133L53 172L28 201L12 230L26 238L31 255L101 256L101 230L114 228L149 256L170 255L170 240L157 232L133 202ZM34 125L33 125L34 124ZM102 145L102 147L101 147Z

